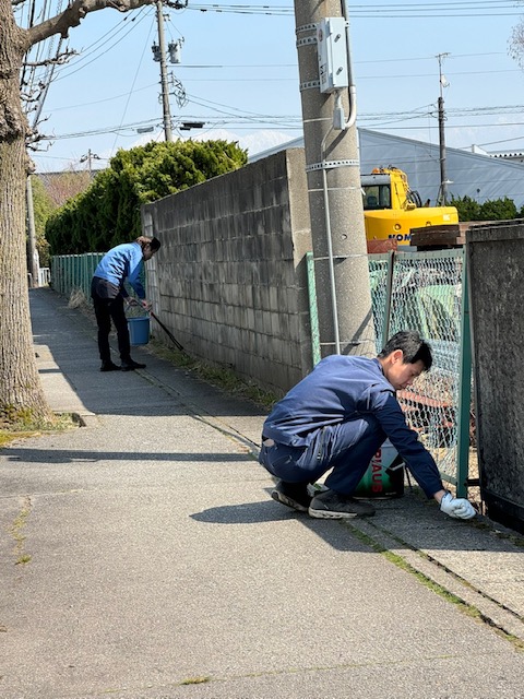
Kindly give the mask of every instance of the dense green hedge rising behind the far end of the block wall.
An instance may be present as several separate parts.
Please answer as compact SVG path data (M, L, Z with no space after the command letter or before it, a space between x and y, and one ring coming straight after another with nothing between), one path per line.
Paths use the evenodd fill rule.
M141 235L142 204L246 165L247 151L227 141L148 143L120 150L87 190L46 223L51 254L104 252Z

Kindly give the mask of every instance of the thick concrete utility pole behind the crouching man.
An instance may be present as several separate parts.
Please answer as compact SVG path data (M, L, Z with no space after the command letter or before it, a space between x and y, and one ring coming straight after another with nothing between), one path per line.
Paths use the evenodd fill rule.
M342 38L348 40L347 23L343 21L343 15L348 19L347 3L342 5L344 11L341 0L295 0L320 343L322 356L374 356L349 44L344 51L349 87L321 92L319 73L318 44L325 37L322 33L318 36L318 24L337 17L333 25L343 26ZM341 32L335 32L338 34L332 37L331 46L336 50ZM341 66L334 66L335 84L343 72Z

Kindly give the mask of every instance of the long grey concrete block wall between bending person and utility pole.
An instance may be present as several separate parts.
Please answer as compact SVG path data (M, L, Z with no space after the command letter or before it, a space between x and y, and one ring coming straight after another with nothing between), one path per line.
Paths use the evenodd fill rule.
M146 204L142 218L162 241L148 297L190 354L277 394L312 368L302 149Z

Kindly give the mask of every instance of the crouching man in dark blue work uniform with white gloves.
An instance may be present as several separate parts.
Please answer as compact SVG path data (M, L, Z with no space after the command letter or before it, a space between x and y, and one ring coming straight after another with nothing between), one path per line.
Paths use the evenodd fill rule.
M295 386L264 422L260 463L279 482L272 498L311 517L370 517L354 499L368 465L386 438L428 498L456 519L475 516L472 503L446 490L433 458L406 424L396 391L431 368L429 345L418 333L391 337L378 357L331 355ZM326 490L308 488L331 470Z

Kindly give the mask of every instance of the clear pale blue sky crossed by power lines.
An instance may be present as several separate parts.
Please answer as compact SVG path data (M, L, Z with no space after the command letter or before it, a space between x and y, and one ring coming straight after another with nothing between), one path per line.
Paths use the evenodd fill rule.
M445 54L446 144L524 150L524 72L508 50L523 2L369 0L348 8L359 127L437 143L437 56ZM17 11L21 25L26 14ZM301 134L291 0L189 0L165 14L166 42L182 44L181 62L168 63L178 85L170 98L175 138L225 138L254 154ZM85 168L90 152L93 167L104 166L118 149L163 140L154 42L152 7L103 10L71 29L62 48L79 56L55 69L40 126L51 139L34 154L37 171ZM57 44L40 46L38 57ZM183 121L204 127L179 131ZM141 135L147 127L153 132Z

